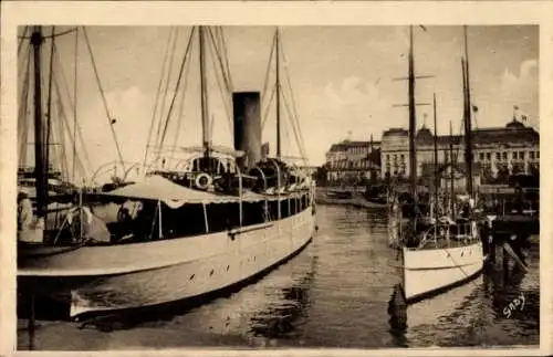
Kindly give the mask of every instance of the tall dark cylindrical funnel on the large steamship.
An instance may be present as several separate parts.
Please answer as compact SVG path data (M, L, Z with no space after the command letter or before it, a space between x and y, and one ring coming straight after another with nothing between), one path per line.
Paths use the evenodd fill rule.
M261 160L261 119L259 92L232 93L234 108L234 149L246 156L240 166L251 168Z

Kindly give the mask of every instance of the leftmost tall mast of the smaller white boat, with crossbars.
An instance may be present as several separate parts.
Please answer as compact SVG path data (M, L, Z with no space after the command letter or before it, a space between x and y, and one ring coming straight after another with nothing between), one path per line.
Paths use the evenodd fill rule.
M413 54L413 25L409 27L409 165L410 183L415 206L417 206L417 147L416 130L417 118L415 108L415 60Z

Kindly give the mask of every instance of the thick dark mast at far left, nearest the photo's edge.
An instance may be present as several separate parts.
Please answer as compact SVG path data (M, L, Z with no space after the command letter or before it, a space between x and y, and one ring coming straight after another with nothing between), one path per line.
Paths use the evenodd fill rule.
M34 27L31 35L34 56L34 175L36 179L36 216L46 213L46 171L44 162L44 133L42 127L42 83L41 83L41 27Z

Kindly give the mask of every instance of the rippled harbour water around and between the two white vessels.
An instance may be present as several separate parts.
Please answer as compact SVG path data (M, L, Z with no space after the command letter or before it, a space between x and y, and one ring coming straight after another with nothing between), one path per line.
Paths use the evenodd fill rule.
M231 295L132 323L38 321L29 334L19 321L18 349L539 345L538 244L529 251L528 272L487 270L408 306L407 329L395 332L387 311L399 275L386 209L319 206L317 224L304 251Z

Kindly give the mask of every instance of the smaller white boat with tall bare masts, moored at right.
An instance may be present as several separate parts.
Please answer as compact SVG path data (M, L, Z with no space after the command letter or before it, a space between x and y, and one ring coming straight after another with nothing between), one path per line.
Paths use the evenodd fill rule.
M410 181L411 199L407 214L397 200L392 204L390 245L399 250L400 287L407 303L432 296L449 287L474 277L483 267L483 249L477 220L473 216L474 196L471 175L471 127L468 63L462 61L465 96L465 139L468 172L467 195L460 196L451 189L440 199L437 179L430 212L422 212L417 192L416 114L415 114L415 70L413 54L413 28L409 49L409 137L410 137ZM436 96L434 98L436 132ZM435 167L437 170L437 146L435 133ZM450 164L453 167L453 162ZM452 169L451 169L451 172ZM453 175L451 174L451 177ZM452 179L451 179L452 182ZM445 201L448 197L448 203ZM449 209L447 209L449 206ZM457 207L462 207L457 209Z

